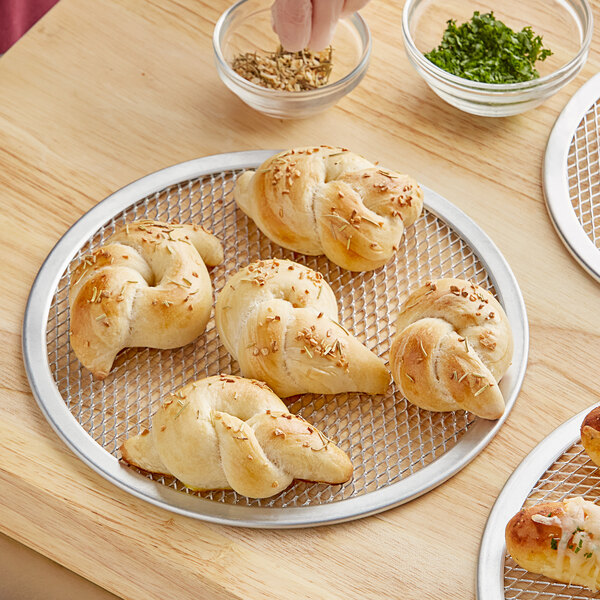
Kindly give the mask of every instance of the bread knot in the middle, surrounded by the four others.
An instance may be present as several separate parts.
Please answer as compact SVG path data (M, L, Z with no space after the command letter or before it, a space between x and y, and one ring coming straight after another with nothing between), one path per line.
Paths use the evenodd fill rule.
M320 273L289 260L238 271L217 296L221 341L242 375L278 396L383 393L383 361L338 324L337 302Z

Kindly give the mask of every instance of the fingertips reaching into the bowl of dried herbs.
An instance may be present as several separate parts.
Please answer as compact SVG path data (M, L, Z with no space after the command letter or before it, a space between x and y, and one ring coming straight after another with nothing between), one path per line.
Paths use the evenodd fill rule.
M303 48L323 50L342 17L361 9L369 0L275 0L271 7L273 29L290 52Z

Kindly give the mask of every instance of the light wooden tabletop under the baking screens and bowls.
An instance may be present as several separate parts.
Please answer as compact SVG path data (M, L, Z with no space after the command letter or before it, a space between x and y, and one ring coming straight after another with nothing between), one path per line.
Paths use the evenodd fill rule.
M600 0L594 0L600 19ZM507 119L461 113L404 55L402 3L364 11L370 70L315 118L263 117L213 66L226 0L62 0L0 59L0 530L124 598L474 596L490 508L525 454L600 400L600 294L554 232L542 197L550 129L600 68ZM21 355L25 302L58 238L142 175L220 152L327 143L413 174L470 215L511 265L531 351L516 406L468 467L424 497L361 521L297 531L205 524L109 484L54 434ZM33 574L32 574L33 575Z

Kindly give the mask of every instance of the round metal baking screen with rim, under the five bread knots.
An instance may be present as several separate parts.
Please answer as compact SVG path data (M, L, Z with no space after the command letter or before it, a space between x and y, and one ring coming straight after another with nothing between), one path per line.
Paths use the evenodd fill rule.
M194 493L175 479L120 464L119 447L128 436L149 427L152 413L170 392L209 375L239 374L237 363L219 341L214 319L200 338L182 348L124 350L103 381L95 381L81 367L69 344L70 278L87 252L128 221L193 221L211 230L225 249L224 263L211 269L215 293L256 259L298 261L323 274L338 298L341 323L386 360L395 315L412 288L429 279L454 276L491 290L507 310L515 334L514 362L501 383L508 413L525 368L527 323L518 286L489 238L463 213L426 190L426 210L407 230L396 259L381 269L351 273L325 257L284 250L236 208L231 193L239 173L268 155L221 155L165 169L113 194L74 225L32 289L24 330L28 374L42 409L73 450L113 482L156 504L198 518L250 526L356 518L405 502L450 477L483 448L501 421L486 422L465 412L420 410L393 386L374 397L358 393L293 397L286 400L289 409L350 455L354 464L350 482L336 486L297 482L263 500L233 491Z

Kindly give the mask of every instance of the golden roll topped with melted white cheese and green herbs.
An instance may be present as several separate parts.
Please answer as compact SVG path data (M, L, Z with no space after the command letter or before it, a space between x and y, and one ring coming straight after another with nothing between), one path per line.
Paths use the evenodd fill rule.
M532 573L600 589L600 507L577 496L520 510L506 526L506 549Z

